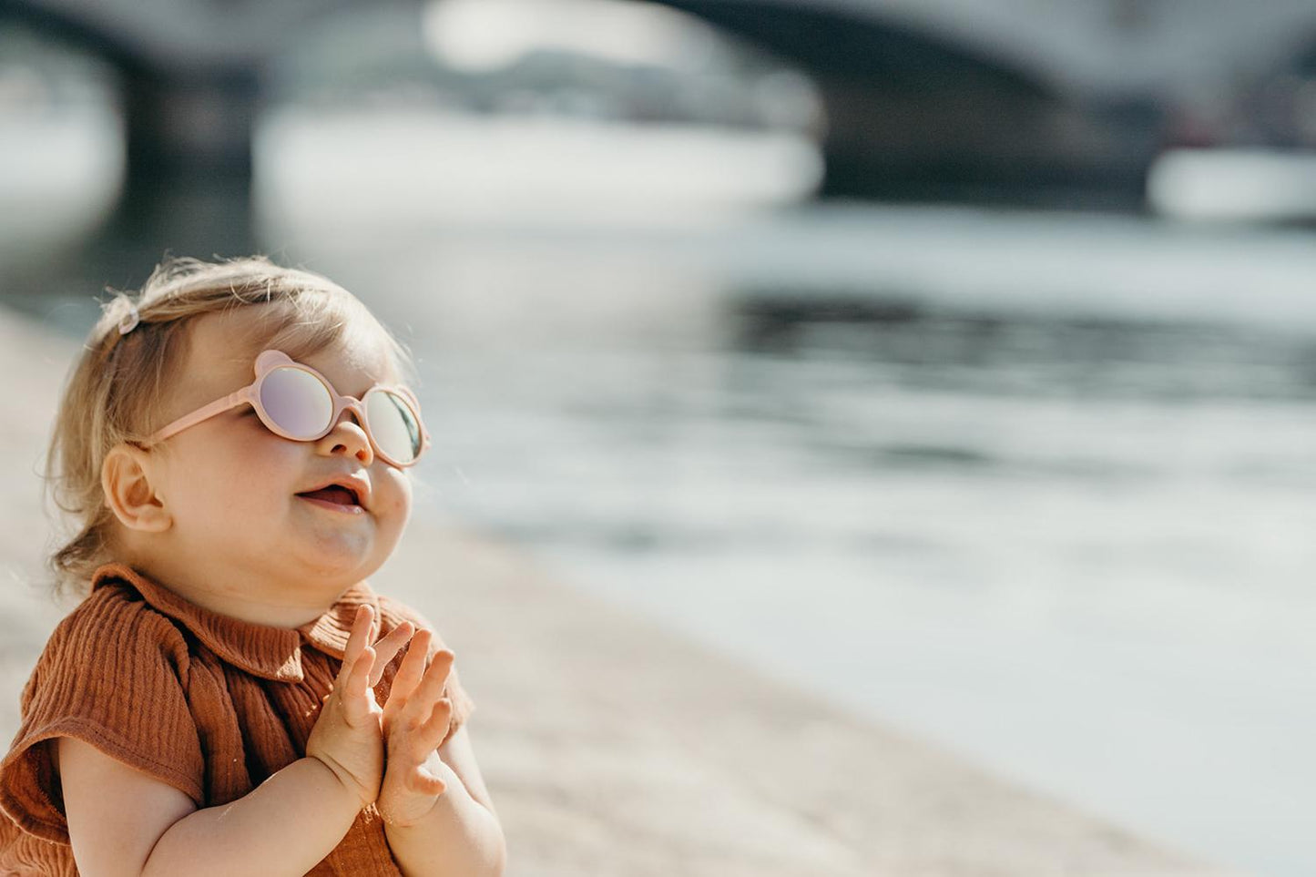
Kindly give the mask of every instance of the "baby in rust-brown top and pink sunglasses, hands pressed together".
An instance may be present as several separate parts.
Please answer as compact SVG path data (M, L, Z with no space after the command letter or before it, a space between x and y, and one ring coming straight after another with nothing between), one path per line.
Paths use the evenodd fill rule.
M0 874L500 874L453 653L366 582L429 445L346 290L174 259L92 329L47 475L84 594L0 762Z

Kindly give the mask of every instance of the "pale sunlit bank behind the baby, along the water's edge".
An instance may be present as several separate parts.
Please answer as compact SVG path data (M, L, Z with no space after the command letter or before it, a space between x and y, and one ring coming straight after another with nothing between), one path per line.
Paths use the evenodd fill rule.
M5 744L18 690L66 611L30 582L51 532L37 467L76 348L0 311L0 367L17 394L0 420ZM457 652L515 877L1227 873L855 719L438 521L413 520L372 583L425 612Z

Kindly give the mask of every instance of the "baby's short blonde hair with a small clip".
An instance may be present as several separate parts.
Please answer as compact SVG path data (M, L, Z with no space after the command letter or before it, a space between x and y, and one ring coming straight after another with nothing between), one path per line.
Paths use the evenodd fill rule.
M328 278L286 269L262 255L203 262L166 258L134 296L103 303L64 386L46 454L47 499L68 516L67 539L46 558L55 591L82 590L109 560L114 515L101 490L101 466L120 442L143 444L164 425L162 402L183 366L196 317L270 304L255 350L275 348L293 359L322 350L351 331L378 332L397 378L416 378L411 352L351 292ZM120 324L138 323L126 334Z

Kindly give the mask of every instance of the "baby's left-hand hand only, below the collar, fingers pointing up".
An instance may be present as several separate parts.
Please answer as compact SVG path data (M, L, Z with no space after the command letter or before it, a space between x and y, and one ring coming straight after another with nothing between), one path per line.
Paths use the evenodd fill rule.
M367 645L375 633L375 612L370 606L357 610L347 637L342 669L333 690L325 695L320 718L307 739L307 756L318 758L366 806L379 795L383 774L383 710L375 702L374 685L384 666L411 639L409 622L399 624L384 639Z

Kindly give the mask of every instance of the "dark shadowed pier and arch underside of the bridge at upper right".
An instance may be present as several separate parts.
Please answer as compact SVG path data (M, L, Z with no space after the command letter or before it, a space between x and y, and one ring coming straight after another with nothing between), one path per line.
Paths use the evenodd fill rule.
M808 72L826 113L822 198L1142 208L1148 113L1087 105L895 17L663 1Z

